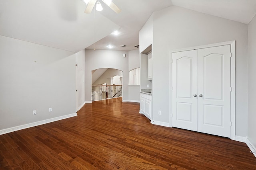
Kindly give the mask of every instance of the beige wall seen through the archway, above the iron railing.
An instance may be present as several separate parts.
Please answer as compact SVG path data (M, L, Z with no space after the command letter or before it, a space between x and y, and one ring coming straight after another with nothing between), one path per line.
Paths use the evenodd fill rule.
M123 72L120 70L116 70L116 69L112 69L112 68L108 68L99 78L98 80L96 80L94 82L94 86L95 85L99 85L99 84L104 84L104 83L108 83L108 85L112 85L110 84L110 77L114 77L114 76L123 76ZM113 82L114 83L114 82ZM120 85L120 84L116 84L116 85Z

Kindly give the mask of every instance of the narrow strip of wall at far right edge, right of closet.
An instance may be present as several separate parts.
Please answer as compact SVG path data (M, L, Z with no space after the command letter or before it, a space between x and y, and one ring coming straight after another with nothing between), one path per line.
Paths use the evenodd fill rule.
M256 147L256 16L248 25L248 139Z

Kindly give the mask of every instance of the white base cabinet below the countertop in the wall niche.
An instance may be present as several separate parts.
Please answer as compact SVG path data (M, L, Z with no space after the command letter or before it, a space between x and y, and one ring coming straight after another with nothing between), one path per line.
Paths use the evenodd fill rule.
M140 113L151 120L151 98L149 94L140 93Z

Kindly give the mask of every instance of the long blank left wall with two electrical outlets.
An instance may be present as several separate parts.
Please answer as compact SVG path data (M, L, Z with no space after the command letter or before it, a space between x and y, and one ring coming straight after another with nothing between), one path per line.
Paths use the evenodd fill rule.
M75 113L75 64L72 52L0 35L0 130Z

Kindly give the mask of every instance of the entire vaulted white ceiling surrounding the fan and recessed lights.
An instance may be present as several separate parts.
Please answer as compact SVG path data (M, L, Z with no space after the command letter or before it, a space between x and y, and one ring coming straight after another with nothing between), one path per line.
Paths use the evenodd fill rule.
M94 10L85 14L82 0L0 0L0 35L73 52L94 46L108 49L107 45L113 45L112 50L130 51L137 49L134 46L139 45L139 31L152 12L168 6L245 24L256 14L256 0L112 1L122 12L116 14L102 3L104 9L96 11L94 20ZM111 34L117 29L119 35Z

